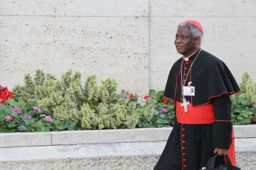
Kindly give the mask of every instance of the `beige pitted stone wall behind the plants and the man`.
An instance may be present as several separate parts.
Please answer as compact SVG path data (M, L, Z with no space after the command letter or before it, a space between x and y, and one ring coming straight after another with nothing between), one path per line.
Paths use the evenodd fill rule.
M188 19L202 23L202 48L238 81L245 71L256 80L255 8L255 0L0 0L0 84L73 68L143 96L165 87L180 57L177 24Z

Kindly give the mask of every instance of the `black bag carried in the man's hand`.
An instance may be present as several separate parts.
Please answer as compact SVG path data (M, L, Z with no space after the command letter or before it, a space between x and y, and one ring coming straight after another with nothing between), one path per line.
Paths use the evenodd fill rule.
M202 167L199 170L241 170L239 167L232 166L228 155L226 156L227 164L217 165L217 167L215 167L215 160L216 160L217 156L218 156L218 153L209 159L209 161L208 161L207 165L205 165L205 167Z

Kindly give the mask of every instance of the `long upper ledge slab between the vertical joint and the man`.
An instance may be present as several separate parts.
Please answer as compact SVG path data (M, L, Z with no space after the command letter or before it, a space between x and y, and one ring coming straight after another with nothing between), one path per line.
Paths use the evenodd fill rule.
M172 128L138 128L52 132L52 145L165 141Z

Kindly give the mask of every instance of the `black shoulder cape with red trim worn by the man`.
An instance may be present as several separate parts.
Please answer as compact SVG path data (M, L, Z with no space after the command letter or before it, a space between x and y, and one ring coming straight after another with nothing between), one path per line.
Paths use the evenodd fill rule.
M195 54L189 57L189 64L194 61ZM175 101L181 102L181 96L175 94L181 94L180 83L180 68L183 57L178 59L172 66L167 79L164 96ZM181 75L186 69L185 61L183 61L183 68ZM189 68L187 68L189 69ZM185 70L186 71L186 70ZM207 104L213 97L221 96L222 94L230 95L240 91L239 85L235 78L231 74L224 62L217 57L209 54L207 51L201 50L200 54L196 58L192 65L191 71L188 73L185 86L188 82L192 82L191 86L195 86L195 96L192 96L189 100L192 100L193 106L199 106ZM178 78L179 77L179 78Z

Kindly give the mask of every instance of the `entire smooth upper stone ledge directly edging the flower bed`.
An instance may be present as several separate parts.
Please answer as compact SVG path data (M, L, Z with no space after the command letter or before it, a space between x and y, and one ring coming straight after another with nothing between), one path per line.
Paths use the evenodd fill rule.
M167 141L172 127L76 130L43 133L1 133L0 147ZM256 125L234 126L236 138L256 137Z

